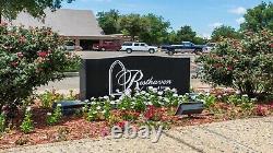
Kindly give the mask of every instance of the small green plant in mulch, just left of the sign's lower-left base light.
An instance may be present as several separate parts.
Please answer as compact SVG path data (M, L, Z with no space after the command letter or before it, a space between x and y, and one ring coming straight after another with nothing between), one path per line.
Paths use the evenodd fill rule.
M47 125L54 126L58 123L61 117L62 117L61 104L58 104L52 114L51 113L47 114Z

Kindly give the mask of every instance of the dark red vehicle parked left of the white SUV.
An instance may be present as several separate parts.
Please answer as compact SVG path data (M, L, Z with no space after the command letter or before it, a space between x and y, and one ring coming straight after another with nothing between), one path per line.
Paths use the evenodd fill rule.
M103 42L102 44L94 44L92 48L97 51L119 51L121 45L119 42Z

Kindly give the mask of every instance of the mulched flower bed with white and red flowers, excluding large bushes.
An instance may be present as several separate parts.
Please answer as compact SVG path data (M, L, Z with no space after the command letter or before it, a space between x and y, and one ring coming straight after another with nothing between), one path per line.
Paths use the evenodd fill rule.
M59 97L72 99L76 96L72 93L64 96L56 92L47 92L46 95L47 97L39 95L35 104L31 105L31 109L22 108L20 110L13 125L8 125L1 132L0 149L106 137L110 134L112 126L123 128L126 121L136 128L149 125L169 129L176 126L193 126L273 115L273 103L258 104L254 102L256 99L250 99L246 95L224 93L216 94L217 97L212 94L195 95L193 98L205 104L205 110L201 115L175 116L178 104L189 102L190 95L178 95L176 90L170 89L157 91L151 87L147 92L127 93L118 99L108 96L92 98L81 111L79 110L73 116L62 116L58 106L52 110L45 107L48 105L44 103L51 104L55 103L55 99L60 99ZM27 114L29 114L31 120L26 118ZM24 131L22 122L26 129L31 128L31 130Z

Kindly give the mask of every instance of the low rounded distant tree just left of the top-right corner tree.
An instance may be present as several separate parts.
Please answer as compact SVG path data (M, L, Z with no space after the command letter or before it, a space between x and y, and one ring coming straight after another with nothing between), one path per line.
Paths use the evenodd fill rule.
M213 42L218 42L221 38L240 38L240 33L232 26L222 25L212 32Z

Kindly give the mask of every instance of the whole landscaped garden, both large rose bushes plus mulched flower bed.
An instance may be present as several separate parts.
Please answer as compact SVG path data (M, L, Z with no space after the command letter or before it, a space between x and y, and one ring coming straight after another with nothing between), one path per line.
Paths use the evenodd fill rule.
M198 76L215 86L210 93L192 90L185 95L176 89L127 91L122 96L94 97L71 116L62 114L60 101L76 101L36 87L64 78L79 57L61 47L64 39L49 28L0 25L0 148L99 138L112 126L192 126L213 121L273 115L272 32L244 33L242 39L223 39L209 55L200 56ZM201 115L176 116L179 104L202 102Z

